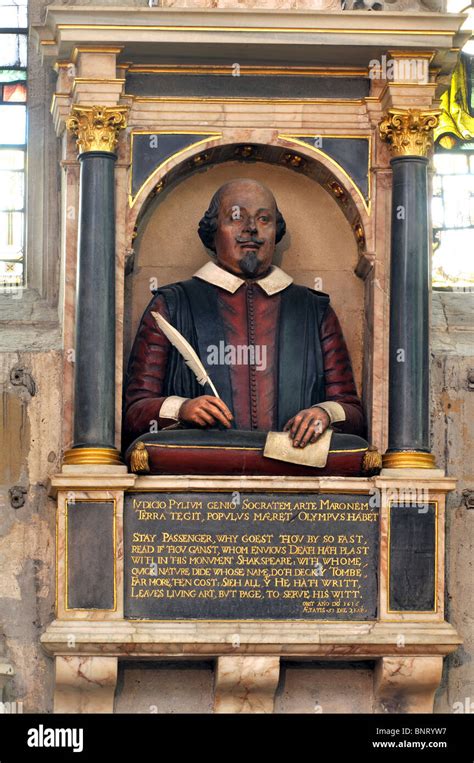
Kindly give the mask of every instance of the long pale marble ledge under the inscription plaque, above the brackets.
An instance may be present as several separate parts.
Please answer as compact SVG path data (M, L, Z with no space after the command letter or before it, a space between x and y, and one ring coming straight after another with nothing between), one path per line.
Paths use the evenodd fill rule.
M445 621L54 620L41 643L52 656L176 659L259 654L337 660L444 656L454 652L462 640Z

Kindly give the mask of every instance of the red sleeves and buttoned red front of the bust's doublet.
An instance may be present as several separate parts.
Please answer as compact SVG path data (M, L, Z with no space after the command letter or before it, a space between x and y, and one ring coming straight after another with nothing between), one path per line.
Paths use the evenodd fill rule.
M237 352L239 347L257 349L253 357L252 351L241 350L240 357L237 354L238 362L229 364L232 413L236 427L276 430L281 291L269 295L258 285L258 281L244 281L234 292L216 285L213 288L218 291L226 348ZM153 310L169 320L164 298L155 301ZM357 396L349 354L339 321L330 305L321 324L320 338L326 384L325 399L321 402L333 401L342 405L345 421L333 424L337 431L363 436L362 406ZM222 353L226 348L217 350ZM127 443L149 431L153 421L157 421L160 428L173 423L170 419L160 418L160 409L166 399L162 390L168 351L168 339L147 311L137 334L129 368L124 421ZM221 356L218 362L222 362ZM212 365L209 369L212 378Z

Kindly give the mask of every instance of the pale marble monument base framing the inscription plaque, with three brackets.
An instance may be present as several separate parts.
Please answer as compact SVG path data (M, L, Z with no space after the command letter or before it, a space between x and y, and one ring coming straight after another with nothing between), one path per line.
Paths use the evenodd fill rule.
M55 660L54 712L114 712L120 660L212 660L215 713L274 712L281 660L333 663L371 661L374 667L375 713L433 712L443 658L456 651L462 643L457 631L443 619L445 503L446 494L455 485L456 481L444 476L440 470L407 469L391 473L384 470L379 476L347 478L202 474L142 476L127 473L124 467L104 469L99 465L94 468L79 465L65 468L61 474L54 475L50 483L50 493L58 500L57 619L41 637L43 649ZM229 500L229 496L235 494L239 498L240 491L261 493L263 496L281 493L291 505L312 495L322 500L324 494L334 496L339 503L360 502L363 505L370 501L370 512L362 511L360 520L351 512L344 518L341 515L337 525L338 533L342 533L341 540L338 539L334 546L334 538L331 535L332 540L329 540L328 535L327 543L332 545L326 552L331 559L336 558L338 553L347 555L347 548L352 543L351 534L361 533L357 548L368 548L366 559L369 564L368 582L364 578L360 588L365 602L365 619L351 620L346 617L351 607L345 604L335 608L332 620L322 617L300 619L293 614L296 611L294 608L280 610L276 617L272 613L273 608L268 606L262 611L266 618L253 619L255 606L252 604L260 601L255 597L242 599L245 604L242 612L231 606L233 600L226 605L225 612L235 612L234 619L219 619L219 612L205 611L204 606L189 610L190 616L186 619L182 616L183 610L175 608L173 617L170 602L173 604L176 599L180 603L181 597L166 597L165 610L160 606L145 608L149 619L145 619L136 608L131 611L131 602L135 605L136 602L151 602L153 599L131 596L131 566L127 566L127 560L132 558L133 553L137 559L143 558L144 564L151 564L149 560L155 558L155 551L152 553L149 548L152 540L147 523L164 522L162 529L167 532L168 526L171 527L166 524L168 518L165 511L163 517L139 516L144 526L137 525L139 537L132 541L137 529L133 522L138 522L138 509L137 512L132 511L132 503L135 500L166 503L175 493L189 493L193 500L203 503L200 511L206 513L204 519L207 524L201 516L198 523L191 512L192 516L183 517L180 524L179 517L173 519L176 527L186 532L188 527L189 532L195 532L196 528L202 532L203 528L207 530L210 527L208 531L214 532L217 520L212 515L214 508L208 510L206 495L210 494L211 502L214 502L214 499L219 499L219 493L225 494L226 500ZM199 496L199 493L202 495ZM245 498L242 498L242 506ZM411 505L413 500L415 511L419 509L416 516L413 514L417 527L427 528L427 531L424 535L413 534L409 522L407 537L416 540L418 546L410 547L408 551L412 556L416 552L416 558L423 558L425 567L418 574L416 569L410 568L410 574L405 576L409 581L408 587L398 586L392 590L391 581L394 585L393 581L400 580L400 568L405 569L411 557L405 563L407 554L397 556L395 551L399 548L393 545L395 542L392 548L390 538L396 538L397 530L400 527L403 529L406 522L413 519L413 509L405 511L404 506L405 502ZM178 512L181 509L173 510ZM319 511L319 506L311 510ZM186 506L184 511L188 511ZM265 512L268 511L270 509L265 508ZM277 507L275 511L280 509ZM303 516L309 510L302 511L298 520L294 519L291 506L286 507L285 511L292 515L291 532L304 535L304 527L298 529L297 523L313 521L311 517ZM208 513L212 516L208 517ZM267 529L264 522L270 520L271 517L262 517L256 531L262 533ZM192 524L194 521L195 524ZM322 512L318 521L323 528L329 528L324 532L330 534L332 529L329 523L336 519L327 518ZM351 525L357 521L362 525L360 530ZM285 522L285 517L278 518L275 532ZM226 518L222 523L222 532L235 534L242 527L245 529L245 523L248 525L250 520L245 517L239 520L238 530L229 524L230 519ZM74 549L78 539L83 539L85 535L89 556L77 557ZM132 542L135 544L133 552ZM186 543L184 540L169 541L171 546L175 542ZM143 548L137 550L137 544ZM181 566L185 565L185 561L181 560L183 553L181 548L176 550L176 564ZM256 553L251 551L251 554ZM318 551L316 555L319 553L325 552ZM97 576L90 575L90 570L97 569L94 567L97 564L102 574L100 586ZM264 583L267 585L265 580ZM423 590L426 589L423 606L420 604L418 609L412 606L410 599L410 591L415 584L417 590L421 590L423 585ZM141 577L133 585L146 589L146 581L143 583ZM337 590L336 586L333 588ZM299 586L298 590L303 589ZM395 607L389 606L390 597ZM206 601L205 597L203 601ZM290 597L288 601L293 606L296 599ZM160 604L160 599L157 598L156 602ZM392 609L396 611L392 612ZM127 618L124 617L124 610ZM168 614L166 620L161 619L163 611ZM332 611L331 607L329 611ZM345 614L342 614L343 611ZM216 616L211 617L213 614Z

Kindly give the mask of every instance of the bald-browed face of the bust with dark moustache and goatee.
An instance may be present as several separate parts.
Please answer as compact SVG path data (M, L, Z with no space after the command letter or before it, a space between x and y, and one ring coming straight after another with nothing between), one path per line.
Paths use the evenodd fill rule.
M275 251L276 204L255 180L236 180L222 193L215 248L217 264L244 278L263 275Z

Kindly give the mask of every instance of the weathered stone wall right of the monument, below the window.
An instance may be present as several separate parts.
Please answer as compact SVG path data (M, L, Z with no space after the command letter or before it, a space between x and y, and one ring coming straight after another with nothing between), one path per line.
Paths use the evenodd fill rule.
M463 496L474 490L474 389L468 382L474 369L474 294L433 297L433 452L438 465L458 480L446 506L446 619L464 640L445 661L435 710L474 712L474 510Z

